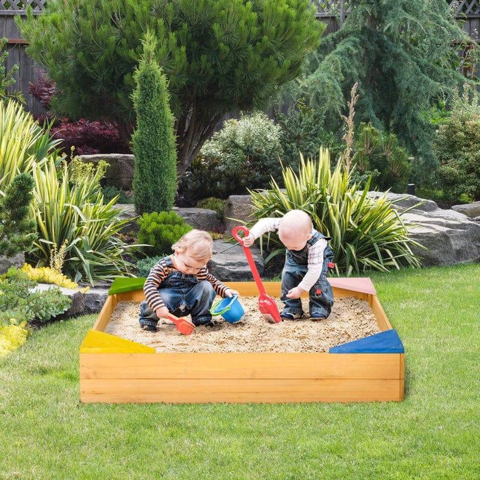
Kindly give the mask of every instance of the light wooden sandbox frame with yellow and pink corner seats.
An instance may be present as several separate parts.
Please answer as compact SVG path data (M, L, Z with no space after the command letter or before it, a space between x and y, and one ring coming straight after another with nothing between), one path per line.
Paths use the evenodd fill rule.
M336 298L366 300L380 331L392 329L369 278L329 280ZM258 295L254 283L227 285L243 296ZM265 282L265 289L278 296L280 283ZM104 333L117 303L143 299L142 289L108 296L80 346L83 403L347 403L404 398L404 353L162 353Z

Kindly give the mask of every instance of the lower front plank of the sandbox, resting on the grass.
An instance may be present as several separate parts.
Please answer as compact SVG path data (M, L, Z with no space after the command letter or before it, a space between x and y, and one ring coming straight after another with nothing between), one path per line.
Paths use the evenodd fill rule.
M398 401L399 380L82 379L84 403L292 403Z

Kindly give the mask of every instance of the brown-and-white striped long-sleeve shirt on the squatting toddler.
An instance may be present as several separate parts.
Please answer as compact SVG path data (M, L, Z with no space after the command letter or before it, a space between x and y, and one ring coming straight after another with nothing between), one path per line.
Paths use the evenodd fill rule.
M158 292L158 289L161 288L163 281L172 273L178 270L173 267L173 261L171 261L171 256L166 256L165 258L158 261L150 270L150 273L143 285L143 292L145 293L145 300L149 307L156 311L161 307L165 307L165 303ZM228 287L221 283L220 280L215 278L211 273L208 272L206 265L202 267L197 274L195 274L198 281L208 280L213 286L215 293L217 295L224 297L225 292L228 290Z

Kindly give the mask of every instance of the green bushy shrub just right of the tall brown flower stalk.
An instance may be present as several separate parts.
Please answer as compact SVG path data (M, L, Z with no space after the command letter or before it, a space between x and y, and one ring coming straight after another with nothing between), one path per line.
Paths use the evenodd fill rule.
M398 145L395 134L361 123L355 135L354 152L352 162L357 172L367 178L374 173L370 187L405 192L411 167L407 151Z

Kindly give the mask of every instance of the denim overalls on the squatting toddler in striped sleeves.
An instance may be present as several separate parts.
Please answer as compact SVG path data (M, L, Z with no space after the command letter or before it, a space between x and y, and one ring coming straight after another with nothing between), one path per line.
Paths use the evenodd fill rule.
M169 266L173 266L171 259L167 259ZM215 299L215 290L208 280L198 280L197 276L182 274L174 270L158 288L165 307L177 317L191 315L195 326L211 323L210 309ZM141 325L156 326L158 317L146 301L140 304Z

